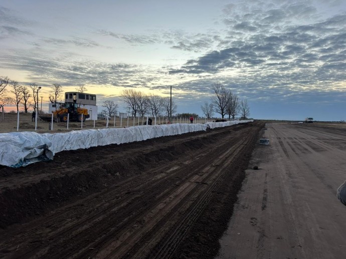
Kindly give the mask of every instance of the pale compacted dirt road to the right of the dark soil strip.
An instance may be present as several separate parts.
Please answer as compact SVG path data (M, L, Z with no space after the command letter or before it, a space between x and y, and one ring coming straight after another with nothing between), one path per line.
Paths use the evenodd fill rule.
M346 258L346 127L270 123L218 258Z

